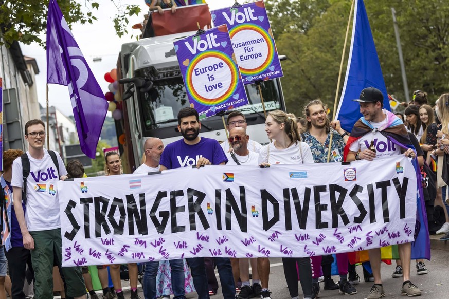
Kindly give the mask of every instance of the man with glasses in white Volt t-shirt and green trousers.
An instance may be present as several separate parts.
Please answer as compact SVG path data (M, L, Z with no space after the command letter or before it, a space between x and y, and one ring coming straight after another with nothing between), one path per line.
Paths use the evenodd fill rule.
M59 211L59 177L67 178L61 156L55 152L59 167L51 159L45 143L45 126L39 119L25 124L25 140L29 144L30 175L26 179L26 215L22 207L24 188L22 158L12 163L14 210L23 236L23 245L31 250L34 269L34 298L53 297L53 265L61 266L62 241ZM25 199L25 197L24 197ZM67 296L86 298L86 286L80 267L64 267L62 273L67 283Z

